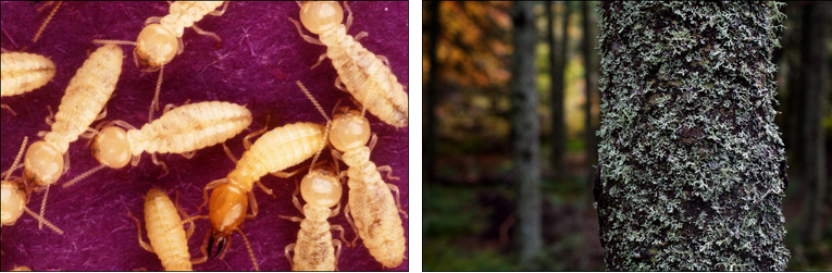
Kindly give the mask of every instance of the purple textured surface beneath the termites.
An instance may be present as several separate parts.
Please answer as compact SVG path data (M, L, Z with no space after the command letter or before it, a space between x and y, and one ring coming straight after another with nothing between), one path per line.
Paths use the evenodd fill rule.
M20 149L24 136L29 144L39 140L37 133L49 131L44 122L49 115L47 107L57 110L70 79L98 46L92 39L135 40L150 16L169 13L166 2L64 2L47 26L38 42L32 38L51 12L51 7L38 11L44 3L2 3L2 48L42 54L58 67L57 75L46 86L32 92L3 98L17 116L3 110L2 170L8 170ZM348 34L355 36L368 32L360 42L371 52L388 58L393 73L399 83L408 86L408 4L407 2L350 2L353 24ZM334 87L337 76L331 61L310 70L325 47L306 42L287 17L298 20L299 8L294 2L232 2L222 16L207 15L196 25L218 34L221 44L198 35L190 28L182 37L184 52L164 66L164 83L160 104L182 106L190 102L227 101L245 104L253 115L247 131L226 144L236 157L245 150L243 137L265 126L269 128L296 122L324 123L325 120L296 86L301 80L315 99L331 114L338 100L351 104L351 95ZM346 18L346 14L345 14ZM305 29L305 34L316 37ZM26 49L24 49L26 47ZM123 71L105 109L105 121L122 120L136 127L147 123L148 108L153 97L158 72L142 73L133 60L133 47L122 46L125 54ZM156 112L154 119L162 115ZM399 128L381 122L368 112L373 133L378 142L371 160L376 165L390 165L395 184L401 191L401 206L409 211L408 202L408 128ZM94 125L97 125L95 123ZM8 271L25 265L36 271L131 271L145 268L163 270L159 258L140 248L136 238L136 224L127 211L142 220L141 237L147 239L144 223L144 197L151 188L161 188L171 199L179 194L179 203L189 214L208 213L208 208L197 210L202 203L202 188L211 181L225 177L235 164L223 152L221 145L197 151L191 159L179 154L159 154L170 174L163 174L145 153L137 166L121 170L104 169L70 188L61 185L99 163L91 157L86 139L70 145L71 169L50 189L46 219L65 234L59 235L45 227L37 228L37 221L28 214L21 216L13 226L2 227L2 265ZM321 156L332 160L328 149ZM309 164L310 160L302 164ZM301 164L301 165L302 165ZM340 162L342 169L346 169ZM287 171L294 171L290 167ZM21 171L14 173L20 176ZM302 175L302 174L301 174ZM277 195L274 199L254 187L259 214L246 220L240 227L253 250L260 270L287 271L289 262L284 248L297 240L299 223L280 219L277 215L301 216L291 203L295 182L301 175L284 179L268 175L262 183ZM383 177L386 174L383 173ZM347 201L348 186L344 186L342 203ZM40 210L44 191L34 193L28 203L33 211ZM301 203L305 201L301 200ZM250 213L250 212L249 212ZM408 219L401 218L405 237ZM356 233L343 212L330 220L346 229L351 240ZM193 258L202 257L199 247L210 231L207 220L196 222L196 232L188 241ZM338 234L334 233L334 237ZM408 240L409 245L409 240ZM294 252L291 253L294 255ZM409 247L405 252L410 256ZM382 264L370 256L361 240L356 247L345 247L338 269L342 271L378 271ZM197 271L251 271L253 265L238 234L232 236L231 247L224 259L213 259L194 265ZM395 271L408 271L408 260Z

